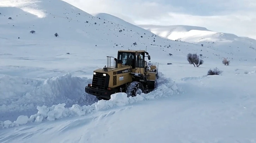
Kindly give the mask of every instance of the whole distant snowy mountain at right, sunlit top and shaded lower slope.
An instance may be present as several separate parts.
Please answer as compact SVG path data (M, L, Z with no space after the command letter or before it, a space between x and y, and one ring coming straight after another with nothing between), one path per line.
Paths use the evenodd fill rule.
M248 37L238 37L234 34L216 32L205 27L187 25L138 25L152 33L166 39L184 41L194 44L203 44L219 51L234 51L250 48L256 51L256 40ZM237 50L237 49L236 49ZM254 53L254 52L253 52ZM246 54L244 52L244 54Z

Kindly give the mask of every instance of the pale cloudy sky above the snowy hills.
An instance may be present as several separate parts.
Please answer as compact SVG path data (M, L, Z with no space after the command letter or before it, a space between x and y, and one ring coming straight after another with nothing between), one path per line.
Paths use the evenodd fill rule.
M256 0L63 0L133 24L192 25L256 39Z

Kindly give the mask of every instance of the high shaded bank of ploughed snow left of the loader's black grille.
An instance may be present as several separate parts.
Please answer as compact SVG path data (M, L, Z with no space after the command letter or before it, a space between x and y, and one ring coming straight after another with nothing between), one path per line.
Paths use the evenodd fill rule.
M65 103L90 105L98 100L84 92L91 79L71 74L46 80L3 76L0 78L0 112L25 111L37 106Z

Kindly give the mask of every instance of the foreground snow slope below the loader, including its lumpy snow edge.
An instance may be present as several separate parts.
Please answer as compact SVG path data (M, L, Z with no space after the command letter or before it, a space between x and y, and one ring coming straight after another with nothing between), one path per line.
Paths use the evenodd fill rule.
M49 142L78 143L255 141L256 96L252 88L255 75L185 77L176 82L178 92L173 92L173 82L168 83L171 80L162 77L164 80L160 80L157 90L148 95L128 99L116 94L109 101L83 107L38 106L38 113L33 116L21 116L14 123L2 122L4 132L0 141L43 143L44 138L50 138ZM151 100L146 100L150 96Z

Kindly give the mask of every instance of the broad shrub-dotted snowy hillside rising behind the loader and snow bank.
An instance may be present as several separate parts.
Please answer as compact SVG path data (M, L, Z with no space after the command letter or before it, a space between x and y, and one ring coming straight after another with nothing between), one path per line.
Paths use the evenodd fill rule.
M45 17L39 18L19 7L1 7L0 31L5 32L0 34L0 55L5 62L0 63L3 68L0 74L47 78L68 71L84 75L104 67L106 56L116 56L117 50L146 49L147 46L162 51L166 49L164 46L172 45L172 52L177 52L179 46L188 46L162 39L132 24L122 26L93 17L60 0L31 1L19 7L39 9ZM8 3L12 1L2 0L0 6ZM35 33L30 33L31 30ZM55 33L59 36L55 37ZM193 50L200 49L190 46L195 47ZM94 63L86 62L92 59Z

